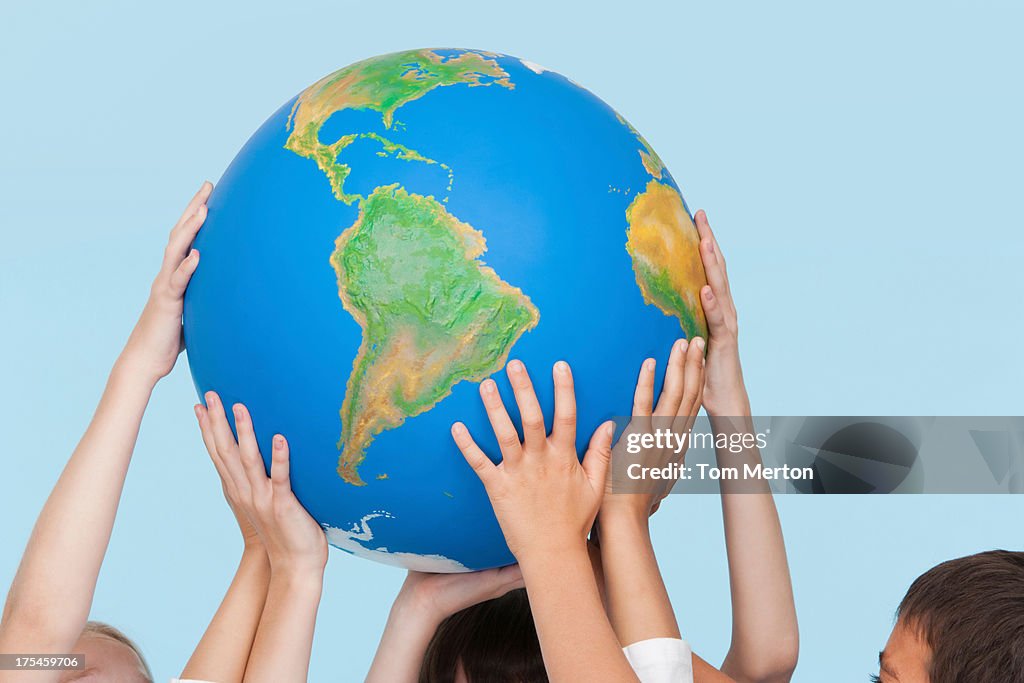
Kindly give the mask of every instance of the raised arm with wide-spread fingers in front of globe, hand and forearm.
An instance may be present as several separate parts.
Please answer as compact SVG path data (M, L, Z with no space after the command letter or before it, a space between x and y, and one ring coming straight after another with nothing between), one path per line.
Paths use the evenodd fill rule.
M604 492L614 424L598 428L581 465L568 365L555 365L550 437L526 368L513 360L508 376L522 416L523 442L494 380L480 385L480 394L502 450L501 465L480 451L462 423L453 425L452 435L483 482L519 561L548 678L552 683L637 681L604 613L587 552L587 535Z

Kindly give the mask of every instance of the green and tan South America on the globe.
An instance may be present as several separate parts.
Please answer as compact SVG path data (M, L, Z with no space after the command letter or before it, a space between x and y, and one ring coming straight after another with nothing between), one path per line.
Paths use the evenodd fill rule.
M377 434L500 370L537 326L537 307L479 260L484 251L479 230L397 184L362 200L338 238L338 294L362 328L341 407L345 481L365 483L356 470Z

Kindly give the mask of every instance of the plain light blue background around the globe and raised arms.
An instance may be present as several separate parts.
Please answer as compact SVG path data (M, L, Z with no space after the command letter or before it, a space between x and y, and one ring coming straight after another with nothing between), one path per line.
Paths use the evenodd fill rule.
M0 9L0 584L200 181L301 88L401 48L528 58L646 135L720 236L757 412L1021 412L1018 3L400 4ZM241 549L194 399L182 362L143 424L94 605L162 677ZM797 681L865 680L914 577L1024 541L1011 497L778 506ZM718 502L674 497L654 533L684 633L720 660ZM312 680L361 677L401 577L333 553Z

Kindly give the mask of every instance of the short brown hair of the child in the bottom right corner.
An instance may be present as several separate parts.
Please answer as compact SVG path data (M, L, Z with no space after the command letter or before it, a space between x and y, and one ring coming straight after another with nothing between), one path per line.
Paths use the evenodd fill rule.
M897 617L932 650L932 683L1024 681L1024 552L992 550L918 578Z

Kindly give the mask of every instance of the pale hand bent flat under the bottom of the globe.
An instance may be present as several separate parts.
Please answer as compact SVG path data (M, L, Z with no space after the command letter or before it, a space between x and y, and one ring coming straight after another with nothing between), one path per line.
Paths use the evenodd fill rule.
M395 605L439 624L458 611L522 587L518 564L467 573L410 571Z

